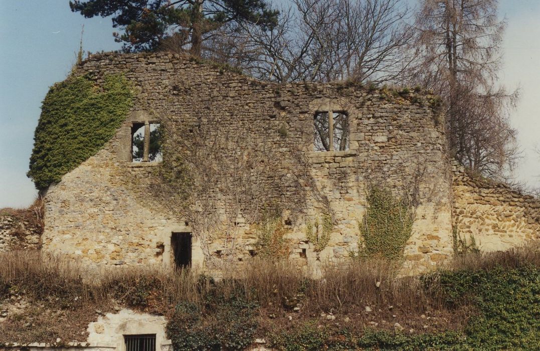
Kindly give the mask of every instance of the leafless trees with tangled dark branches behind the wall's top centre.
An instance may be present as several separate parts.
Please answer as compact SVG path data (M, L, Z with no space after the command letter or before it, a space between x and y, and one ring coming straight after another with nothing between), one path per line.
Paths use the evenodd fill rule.
M407 11L401 0L292 0L277 25L244 24L242 68L281 83L402 78Z

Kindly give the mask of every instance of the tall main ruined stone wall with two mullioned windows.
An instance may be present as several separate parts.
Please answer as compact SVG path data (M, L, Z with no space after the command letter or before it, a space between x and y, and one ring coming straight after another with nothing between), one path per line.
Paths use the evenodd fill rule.
M102 151L49 188L45 249L98 265L170 265L171 232L192 232L193 260L208 268L224 254L232 261L256 254L260 208L276 202L289 258L316 271L357 252L366 189L376 184L417 201L405 248L411 272L452 254L451 175L435 97L340 83L264 83L166 53L92 56L75 74L100 84L113 73L136 91L132 112ZM313 151L314 114L329 109L349 116L347 151ZM225 234L219 227L203 235L197 220L149 192L160 164L130 162L131 127L144 122L166 123L187 131L186 138L210 130L202 145L217 145L205 157L216 162L208 169L220 171L205 186L213 211L227 222ZM182 152L170 141L164 147L165 162ZM249 165L248 177L238 164ZM325 215L332 231L317 252L306 223Z

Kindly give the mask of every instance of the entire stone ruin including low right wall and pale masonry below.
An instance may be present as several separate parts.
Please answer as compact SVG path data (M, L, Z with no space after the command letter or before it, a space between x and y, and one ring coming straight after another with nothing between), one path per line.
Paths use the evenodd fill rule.
M537 200L472 177L449 159L442 109L429 93L259 82L169 53L95 55L73 74L98 84L123 74L136 94L116 135L44 194L42 250L88 267L192 266L219 274L222 262L259 253L261 221L273 208L286 257L316 273L361 249L370 186L414 207L407 273L451 258L456 237L474 238L483 251L540 238ZM169 137L161 153L151 157L146 137L143 157L134 158L134 135L157 127ZM183 188L158 180L186 152L200 172L184 181L199 186L191 208L181 210L173 198ZM159 325L122 313L89 327L91 338L113 345L89 339L93 348L122 344L123 332L111 330L124 317L131 334Z

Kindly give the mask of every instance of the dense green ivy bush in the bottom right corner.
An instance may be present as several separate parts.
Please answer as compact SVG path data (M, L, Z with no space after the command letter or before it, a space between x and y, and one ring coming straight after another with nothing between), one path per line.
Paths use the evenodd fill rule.
M478 309L465 327L475 349L540 349L540 269L444 272L449 300L468 299Z

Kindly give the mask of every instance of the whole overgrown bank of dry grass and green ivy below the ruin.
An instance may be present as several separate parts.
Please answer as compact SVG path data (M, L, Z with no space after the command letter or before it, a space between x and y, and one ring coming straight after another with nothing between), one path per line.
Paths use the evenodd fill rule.
M311 280L286 261L259 258L219 281L158 268L79 277L70 261L0 254L1 298L28 301L0 323L0 342L84 341L96 309L117 305L165 314L177 350L242 349L255 338L285 350L540 347L538 245L461 255L421 279L399 278L372 259L326 267Z

